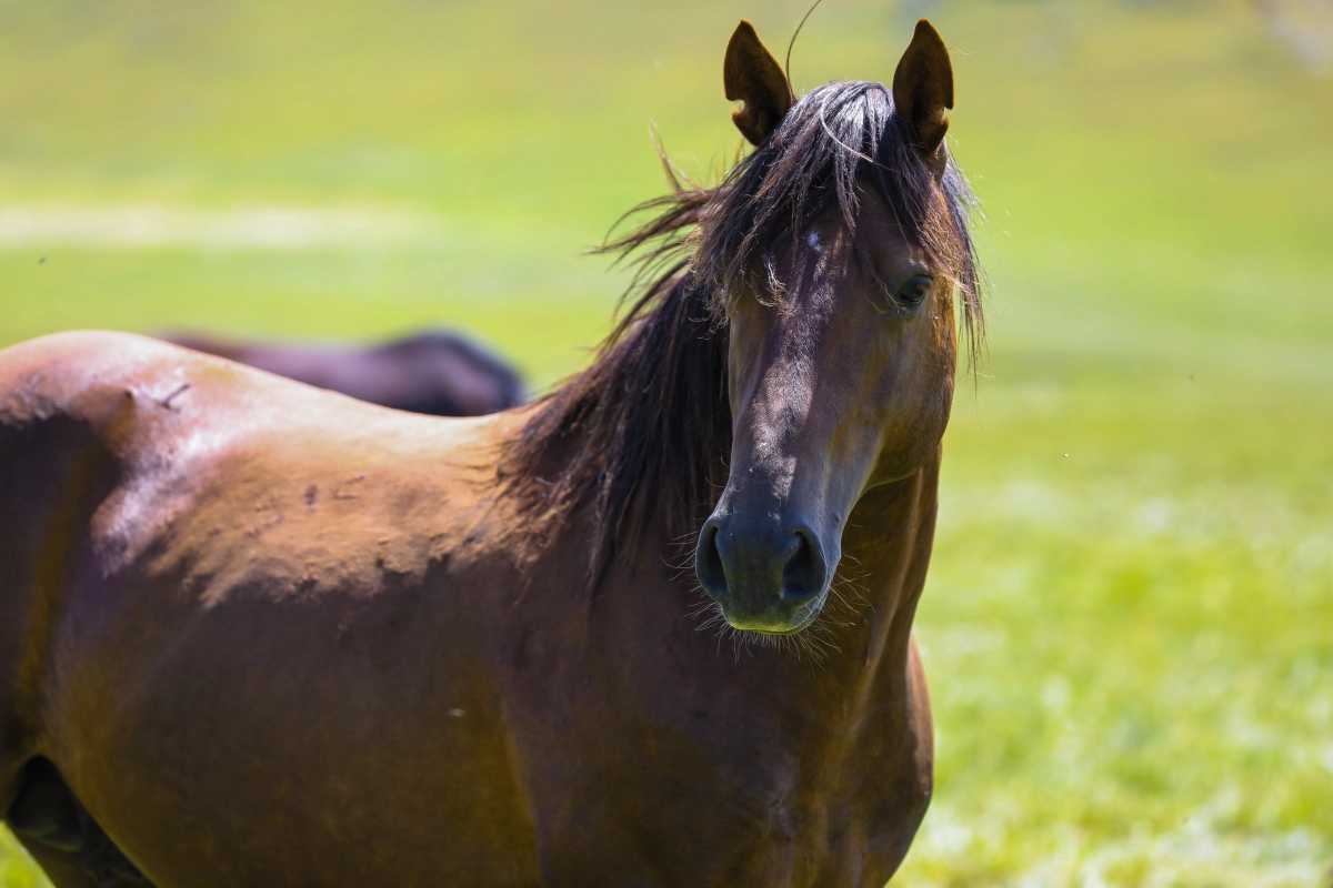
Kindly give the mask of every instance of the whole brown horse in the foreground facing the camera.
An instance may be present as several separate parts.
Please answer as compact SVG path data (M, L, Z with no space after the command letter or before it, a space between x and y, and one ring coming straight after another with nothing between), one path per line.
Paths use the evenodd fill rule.
M949 57L922 21L892 89L797 99L742 23L724 73L756 149L620 244L652 276L536 405L0 355L0 809L57 885L894 872L960 304L980 332Z

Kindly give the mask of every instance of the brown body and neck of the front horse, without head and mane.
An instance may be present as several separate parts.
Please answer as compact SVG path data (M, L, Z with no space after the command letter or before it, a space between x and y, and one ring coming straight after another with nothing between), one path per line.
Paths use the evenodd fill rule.
M155 884L877 885L905 853L936 461L858 503L876 607L816 668L696 631L664 541L591 604L564 550L525 583L483 467L521 413L112 333L0 354L0 787L49 759Z

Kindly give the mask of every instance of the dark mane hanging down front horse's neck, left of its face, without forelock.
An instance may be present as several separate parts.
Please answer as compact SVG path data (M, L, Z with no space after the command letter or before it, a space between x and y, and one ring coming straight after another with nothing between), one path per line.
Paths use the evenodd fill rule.
M673 192L627 214L656 216L600 250L637 266L619 324L593 363L539 406L504 461L505 483L539 526L556 530L591 507L593 582L655 514L668 527L692 526L730 451L726 330L688 261L688 236L713 192L685 188L666 169Z

